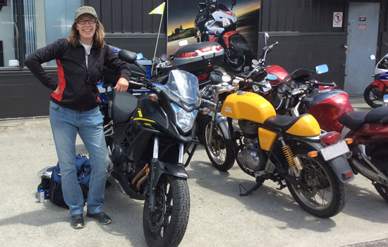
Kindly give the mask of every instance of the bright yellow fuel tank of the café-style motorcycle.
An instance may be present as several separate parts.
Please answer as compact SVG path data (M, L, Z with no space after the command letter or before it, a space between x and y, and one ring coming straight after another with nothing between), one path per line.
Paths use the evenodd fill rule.
M245 119L263 123L269 116L276 115L271 103L253 92L228 95L222 106L221 114L232 119Z

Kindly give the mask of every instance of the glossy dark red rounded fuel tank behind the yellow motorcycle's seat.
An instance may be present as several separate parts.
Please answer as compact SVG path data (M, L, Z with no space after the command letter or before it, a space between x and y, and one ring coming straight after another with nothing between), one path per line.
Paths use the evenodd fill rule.
M349 97L346 92L339 89L318 90L306 96L298 108L300 114L309 113L317 119L320 127L325 131L341 133L344 126L339 123L339 118L353 112Z

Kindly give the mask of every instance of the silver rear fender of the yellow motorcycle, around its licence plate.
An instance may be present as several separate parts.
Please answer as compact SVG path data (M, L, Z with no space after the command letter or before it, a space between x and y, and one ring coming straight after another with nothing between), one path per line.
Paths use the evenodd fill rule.
M313 143L313 142L306 142L306 143L314 147L315 150L320 150L323 147L321 143ZM332 168L334 173L337 175L339 181L341 181L342 183L348 183L350 181L353 181L354 179L353 171L348 162L348 159L346 159L344 155L341 155L334 159L327 160L326 162L329 164L329 166ZM349 171L351 172L351 176L346 179L345 174L347 174Z

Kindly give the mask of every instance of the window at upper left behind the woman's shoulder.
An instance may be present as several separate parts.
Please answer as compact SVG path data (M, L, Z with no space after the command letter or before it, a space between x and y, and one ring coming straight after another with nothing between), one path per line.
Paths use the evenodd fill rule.
M0 67L19 67L35 49L67 37L82 4L82 0L0 0Z

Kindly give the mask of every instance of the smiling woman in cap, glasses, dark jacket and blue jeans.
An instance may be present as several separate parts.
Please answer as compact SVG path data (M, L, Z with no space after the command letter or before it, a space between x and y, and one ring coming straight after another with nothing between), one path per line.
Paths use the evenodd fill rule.
M131 71L105 45L104 27L90 6L75 12L67 39L57 40L37 49L25 59L25 65L47 88L52 90L50 124L61 169L63 198L69 207L71 227L83 228L84 198L75 169L75 138L83 140L92 164L87 194L87 217L100 224L111 223L104 213L104 188L109 157L104 139L102 114L99 112L97 84L102 80L102 67L120 71L115 89L128 89ZM56 59L59 83L44 72L41 64Z

